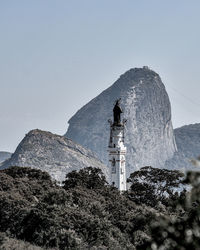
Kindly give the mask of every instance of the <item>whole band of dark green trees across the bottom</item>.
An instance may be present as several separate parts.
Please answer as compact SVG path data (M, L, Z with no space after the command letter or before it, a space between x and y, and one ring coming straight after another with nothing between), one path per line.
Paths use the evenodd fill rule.
M62 187L40 170L1 170L0 249L200 249L199 179L188 173L193 188L178 193L181 173L146 167L120 193L91 167Z

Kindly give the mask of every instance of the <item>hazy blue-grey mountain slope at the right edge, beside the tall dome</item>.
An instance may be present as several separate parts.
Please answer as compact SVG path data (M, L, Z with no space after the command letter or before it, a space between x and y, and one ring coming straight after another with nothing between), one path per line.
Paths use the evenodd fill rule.
M178 151L165 164L167 168L199 170L196 159L200 156L200 123L174 130Z

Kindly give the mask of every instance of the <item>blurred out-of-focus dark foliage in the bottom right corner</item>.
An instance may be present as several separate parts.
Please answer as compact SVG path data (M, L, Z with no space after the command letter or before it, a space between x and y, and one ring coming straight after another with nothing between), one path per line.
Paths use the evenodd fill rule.
M179 198L173 216L161 216L151 224L151 240L141 249L200 249L200 173L188 172L185 183L192 190Z

